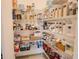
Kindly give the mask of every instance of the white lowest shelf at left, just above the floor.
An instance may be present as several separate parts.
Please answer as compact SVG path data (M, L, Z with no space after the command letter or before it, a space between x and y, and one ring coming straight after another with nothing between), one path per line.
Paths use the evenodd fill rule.
M32 55L32 54L39 54L39 53L43 53L43 49L42 48L37 48L37 49L31 49L31 50L28 50L28 51L21 51L21 52L17 52L15 53L15 56L18 57L18 56L25 56L25 55Z

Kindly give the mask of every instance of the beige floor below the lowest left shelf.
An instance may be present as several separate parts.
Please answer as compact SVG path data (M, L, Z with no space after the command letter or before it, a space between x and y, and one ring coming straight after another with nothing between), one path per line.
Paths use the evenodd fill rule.
M47 59L47 58L43 54L37 54L31 56L16 57L16 59Z

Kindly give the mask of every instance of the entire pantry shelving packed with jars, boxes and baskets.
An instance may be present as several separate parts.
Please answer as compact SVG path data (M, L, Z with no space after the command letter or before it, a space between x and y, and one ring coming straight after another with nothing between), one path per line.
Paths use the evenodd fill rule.
M13 7L18 7L12 9L16 57L43 53L47 59L72 59L78 3L60 1L47 0L43 9L36 7L35 1L14 2Z

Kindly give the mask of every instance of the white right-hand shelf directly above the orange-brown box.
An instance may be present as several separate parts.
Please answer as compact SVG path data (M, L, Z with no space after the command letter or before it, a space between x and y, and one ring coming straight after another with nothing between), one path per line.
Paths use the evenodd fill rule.
M73 44L74 44L75 36L70 36L70 35L63 34L63 33L54 33L54 32L52 33L51 31L48 31L48 30L44 30L43 32L47 32L51 35L54 35L55 37L60 38L61 41L63 41L62 39L65 39L65 41L63 41L63 42L67 43L71 46L73 46Z

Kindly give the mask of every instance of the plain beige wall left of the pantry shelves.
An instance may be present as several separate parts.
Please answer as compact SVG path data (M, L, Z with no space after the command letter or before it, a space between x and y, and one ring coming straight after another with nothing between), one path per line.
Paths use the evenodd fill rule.
M3 59L15 59L13 47L12 0L2 0L1 49Z

